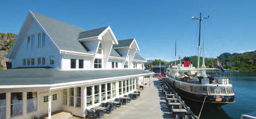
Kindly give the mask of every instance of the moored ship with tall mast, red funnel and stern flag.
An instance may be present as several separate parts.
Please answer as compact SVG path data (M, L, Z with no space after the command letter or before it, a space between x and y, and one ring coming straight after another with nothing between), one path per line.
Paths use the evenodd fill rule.
M201 21L208 17L200 17L192 19L199 20L199 43L198 43L198 61L197 67L193 66L193 60L189 61L189 57L184 57L181 63L181 56L179 56L180 63L172 64L167 70L165 81L173 87L173 89L188 100L213 105L224 105L235 102L235 93L228 78L228 70L221 66L220 60L217 58L216 68L206 68L204 63L204 48L203 48L203 64L199 66L200 60L200 32ZM175 43L176 56L176 43ZM207 73L211 71L212 73ZM219 75L219 72L223 72ZM219 74L218 74L219 73Z

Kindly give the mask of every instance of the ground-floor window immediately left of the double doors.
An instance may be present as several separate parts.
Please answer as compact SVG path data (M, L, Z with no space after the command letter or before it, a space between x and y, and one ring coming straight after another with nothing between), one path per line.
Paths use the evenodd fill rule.
M26 93L26 112L32 112L37 110L37 92Z

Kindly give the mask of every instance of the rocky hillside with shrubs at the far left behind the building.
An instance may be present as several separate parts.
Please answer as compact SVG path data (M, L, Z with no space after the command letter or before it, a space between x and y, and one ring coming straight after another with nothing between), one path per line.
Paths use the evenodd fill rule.
M9 59L5 58L5 56L12 47L16 37L17 35L14 33L0 33L0 70L6 68L6 62Z

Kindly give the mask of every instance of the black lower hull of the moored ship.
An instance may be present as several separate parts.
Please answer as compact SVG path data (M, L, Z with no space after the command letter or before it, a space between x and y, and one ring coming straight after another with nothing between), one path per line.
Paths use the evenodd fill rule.
M182 100L184 100L186 103L188 102L188 103L195 103L195 104L200 104L200 105L203 104L205 95L192 94L192 93L183 91L183 90L175 88L175 87L173 87L173 89L182 98ZM212 99L211 95L207 95L207 97L205 98L204 105L222 106L222 105L225 105L225 104L228 104L228 103L234 103L234 101L217 102L217 101L214 101L214 99Z

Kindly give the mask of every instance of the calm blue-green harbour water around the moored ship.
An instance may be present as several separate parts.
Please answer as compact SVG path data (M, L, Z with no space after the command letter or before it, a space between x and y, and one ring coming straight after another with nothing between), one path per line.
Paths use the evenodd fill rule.
M223 105L221 108L203 108L200 119L240 119L242 114L256 110L256 72L239 72L231 75L236 102ZM200 106L191 102L186 103L196 115L199 115Z

